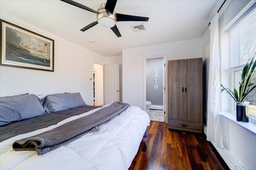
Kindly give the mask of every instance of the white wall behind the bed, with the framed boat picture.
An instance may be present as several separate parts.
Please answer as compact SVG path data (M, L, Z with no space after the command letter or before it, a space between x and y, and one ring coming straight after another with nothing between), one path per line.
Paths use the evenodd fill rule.
M54 40L54 72L0 66L0 95L80 92L93 105L93 61L106 58L40 28L1 13L1 19Z

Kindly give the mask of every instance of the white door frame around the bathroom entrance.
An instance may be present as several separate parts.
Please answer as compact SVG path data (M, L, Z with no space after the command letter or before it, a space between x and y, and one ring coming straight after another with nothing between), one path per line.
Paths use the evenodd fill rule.
M146 60L147 59L155 59L155 58L164 58L164 86L165 86L165 91L164 91L164 111L165 111L165 115L164 115L164 121L165 123L168 123L168 74L166 74L167 70L168 70L168 54L162 54L162 55L150 55L150 56L144 56L143 57L143 110L146 111Z

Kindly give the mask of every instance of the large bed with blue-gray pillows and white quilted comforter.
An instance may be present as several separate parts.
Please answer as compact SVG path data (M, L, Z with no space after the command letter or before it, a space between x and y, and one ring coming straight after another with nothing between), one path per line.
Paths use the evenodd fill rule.
M123 110L106 113L112 116L107 121L95 118L116 106L122 106ZM88 124L88 117L97 119L98 124L72 137L70 142L48 147L47 152L38 152L31 143L16 148L17 143L19 147L30 139L56 133L56 129L58 133L73 134L77 122ZM149 123L148 114L139 107L122 102L104 107L88 106L80 93L47 95L42 99L34 94L1 97L0 169L126 170L138 152ZM66 127L73 128L66 130Z

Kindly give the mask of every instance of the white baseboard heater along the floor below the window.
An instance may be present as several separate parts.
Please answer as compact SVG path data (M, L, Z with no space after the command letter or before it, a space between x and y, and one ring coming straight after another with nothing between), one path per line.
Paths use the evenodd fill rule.
M204 134L207 134L207 127L203 124ZM240 162L233 156L232 153L226 147L219 148L217 147L216 143L211 142L217 152L220 154L224 162L228 165L230 170L246 170Z

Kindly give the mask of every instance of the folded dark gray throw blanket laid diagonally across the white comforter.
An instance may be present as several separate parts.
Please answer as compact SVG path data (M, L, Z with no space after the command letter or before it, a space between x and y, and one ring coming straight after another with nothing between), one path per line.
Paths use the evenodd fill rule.
M97 126L124 111L129 104L114 102L90 115L70 121L50 131L15 141L12 148L16 151L36 150L44 154L66 145L81 136L97 130ZM49 113L51 114L51 113Z

